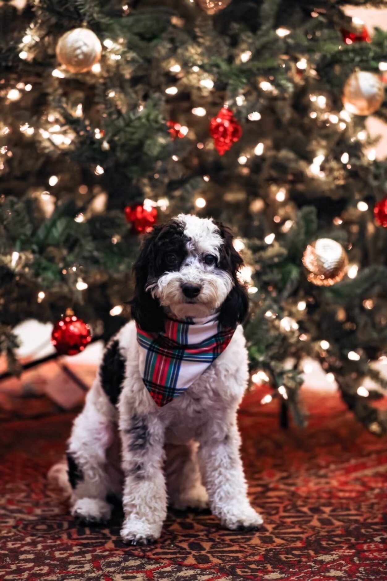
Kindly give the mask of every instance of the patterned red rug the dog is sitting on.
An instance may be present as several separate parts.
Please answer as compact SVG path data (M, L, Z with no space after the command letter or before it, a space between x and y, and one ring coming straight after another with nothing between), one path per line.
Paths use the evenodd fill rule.
M257 399L258 397L258 399ZM0 579L330 581L387 580L385 440L364 431L337 395L306 393L305 430L278 427L276 403L249 394L240 413L258 533L216 518L169 512L159 543L126 547L121 515L84 528L46 482L63 454L71 416L0 429Z

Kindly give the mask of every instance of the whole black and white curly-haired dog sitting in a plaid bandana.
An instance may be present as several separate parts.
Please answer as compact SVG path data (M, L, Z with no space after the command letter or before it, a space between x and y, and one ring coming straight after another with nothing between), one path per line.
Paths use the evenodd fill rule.
M239 454L248 298L232 242L227 228L196 216L154 228L134 267L133 320L108 344L75 419L71 512L106 521L109 495L121 497L129 543L158 539L168 504L209 503L229 529L262 523Z

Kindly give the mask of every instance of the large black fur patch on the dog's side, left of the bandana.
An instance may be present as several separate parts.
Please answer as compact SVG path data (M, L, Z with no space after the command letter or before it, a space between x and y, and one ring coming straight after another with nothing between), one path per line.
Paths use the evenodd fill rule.
M117 405L118 397L125 379L125 358L120 351L117 339L106 348L100 367L102 389L113 406Z

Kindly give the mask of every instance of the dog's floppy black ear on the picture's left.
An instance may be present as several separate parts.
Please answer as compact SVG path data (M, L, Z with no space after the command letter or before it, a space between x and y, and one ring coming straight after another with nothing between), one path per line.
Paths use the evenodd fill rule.
M131 301L132 318L140 328L149 332L164 331L164 313L160 302L146 290L155 263L155 245L161 229L162 226L155 226L144 238L139 257L133 265L136 282Z

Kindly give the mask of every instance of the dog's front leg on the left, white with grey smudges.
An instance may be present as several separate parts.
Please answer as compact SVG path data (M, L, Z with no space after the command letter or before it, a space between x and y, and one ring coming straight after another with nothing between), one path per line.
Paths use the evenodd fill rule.
M138 412L120 418L120 433L125 475L121 536L127 543L148 544L160 537L167 515L164 428L157 413Z

